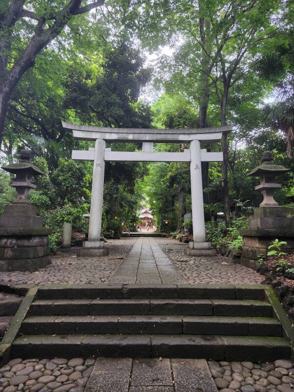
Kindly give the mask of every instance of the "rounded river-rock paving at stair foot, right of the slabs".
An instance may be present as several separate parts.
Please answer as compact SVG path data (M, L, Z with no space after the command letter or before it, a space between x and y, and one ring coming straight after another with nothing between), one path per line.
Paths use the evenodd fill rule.
M294 364L288 360L260 364L208 361L208 365L221 392L294 391Z

